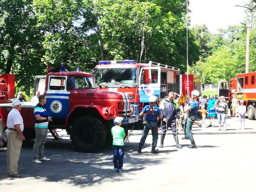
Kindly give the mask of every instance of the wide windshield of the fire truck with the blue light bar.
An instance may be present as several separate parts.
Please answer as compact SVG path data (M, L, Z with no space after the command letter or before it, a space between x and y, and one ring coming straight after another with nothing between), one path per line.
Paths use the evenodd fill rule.
M96 68L94 71L95 84L135 85L137 68Z

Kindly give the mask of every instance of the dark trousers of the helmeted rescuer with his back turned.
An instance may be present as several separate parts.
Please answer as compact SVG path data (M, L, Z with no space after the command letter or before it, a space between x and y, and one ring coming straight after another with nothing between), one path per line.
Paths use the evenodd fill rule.
M156 147L157 139L158 139L158 128L157 128L156 122L153 122L153 121L147 121L146 122L146 124L144 126L144 129L143 129L143 133L142 133L139 145L140 146L144 145L144 143L147 139L147 136L148 136L149 129L151 129L151 133L152 133L152 137L153 137L152 147Z

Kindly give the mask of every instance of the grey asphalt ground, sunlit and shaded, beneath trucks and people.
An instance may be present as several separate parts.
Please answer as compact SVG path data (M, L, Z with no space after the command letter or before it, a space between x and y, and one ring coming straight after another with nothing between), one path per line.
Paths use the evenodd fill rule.
M209 120L207 120L209 121ZM150 154L152 136L138 154L141 131L133 131L125 145L125 173L113 172L111 146L98 153L77 152L65 131L63 140L45 145L49 162L32 163L33 141L24 141L19 172L22 178L10 178L6 168L6 149L0 152L0 188L5 191L256 191L255 147L256 121L246 119L246 129L236 130L239 121L227 119L227 131L193 127L198 148L187 148L189 140L175 147L169 132L159 154ZM217 125L217 121L216 121ZM158 145L160 144L160 133Z

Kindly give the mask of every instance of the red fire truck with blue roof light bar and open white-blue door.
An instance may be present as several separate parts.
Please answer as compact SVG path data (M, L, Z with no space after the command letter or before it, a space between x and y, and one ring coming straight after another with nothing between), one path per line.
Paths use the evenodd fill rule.
M173 91L187 96L187 75L180 69L155 63L136 63L136 60L99 61L93 69L96 88L129 95L135 114L148 104L151 95L164 98ZM199 82L189 75L189 91L200 90Z

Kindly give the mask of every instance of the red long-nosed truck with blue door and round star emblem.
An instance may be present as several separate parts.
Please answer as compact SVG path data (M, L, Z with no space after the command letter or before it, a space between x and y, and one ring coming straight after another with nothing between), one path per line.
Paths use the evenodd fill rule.
M122 124L138 121L137 116L132 116L127 94L97 90L92 78L92 74L85 72L57 70L47 76L36 76L35 81L36 89L44 87L41 94L44 93L47 98L45 108L53 118L53 122L49 123L49 130L66 129L72 144L83 152L97 151L106 140L111 143L110 130L116 116L124 117ZM28 140L35 138L35 105L36 103L24 102L20 111L24 121L24 135ZM4 127L11 110L11 103L0 104L0 118Z

